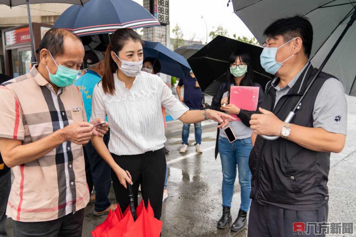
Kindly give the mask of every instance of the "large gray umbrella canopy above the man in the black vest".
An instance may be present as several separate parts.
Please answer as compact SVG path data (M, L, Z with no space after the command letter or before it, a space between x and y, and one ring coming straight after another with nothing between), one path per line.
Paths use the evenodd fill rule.
M264 43L264 29L282 17L303 15L313 25L311 61L319 67L336 39L349 22L355 0L232 0L237 16L250 29L258 42ZM352 25L323 71L336 76L344 85L345 93L356 96L356 24Z

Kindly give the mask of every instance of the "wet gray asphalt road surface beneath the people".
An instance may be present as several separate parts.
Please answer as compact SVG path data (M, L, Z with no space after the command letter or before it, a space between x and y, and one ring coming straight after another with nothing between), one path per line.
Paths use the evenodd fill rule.
M356 98L347 97L348 135L345 149L339 154L332 154L329 174L329 222L354 222L356 224ZM179 122L168 123L167 148L171 151L167 156L169 167L168 198L163 203L162 218L164 224L163 237L223 237L247 236L247 229L234 233L226 228L218 230L221 208L221 162L214 159L216 129L211 122L203 124L202 154L195 153L194 127L190 127L190 146L185 154L179 153L181 142ZM115 201L114 191L110 198ZM240 186L235 182L235 193L232 201L232 218L237 217L240 206ZM103 222L106 216L93 216L93 204L85 209L83 236ZM249 223L250 228L258 223ZM9 236L12 236L11 220L8 221ZM355 228L354 228L355 229ZM356 230L354 230L354 233ZM329 236L356 236L329 235Z

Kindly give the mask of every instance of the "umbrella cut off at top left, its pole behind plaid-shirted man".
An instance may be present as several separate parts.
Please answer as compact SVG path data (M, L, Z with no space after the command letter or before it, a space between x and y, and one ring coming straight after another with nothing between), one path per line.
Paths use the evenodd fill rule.
M57 3L70 3L82 5L89 0L32 0L31 3L47 3L47 2L57 2ZM31 63L36 64L36 54L35 54L35 45L33 43L33 33L32 33L32 23L31 23L31 14L30 14L30 0L0 0L0 4L5 4L7 6L13 7L18 5L27 5L27 17L28 17L28 26L30 27L30 38L31 38L31 50L32 57Z

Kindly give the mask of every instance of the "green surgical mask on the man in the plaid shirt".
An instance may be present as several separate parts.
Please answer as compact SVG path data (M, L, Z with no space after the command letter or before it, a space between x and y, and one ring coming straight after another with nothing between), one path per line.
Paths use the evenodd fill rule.
M48 51L49 53L49 51ZM52 54L49 53L49 55L51 55L51 58L54 61L54 58L52 57ZM58 87L65 87L65 86L70 86L73 85L75 79L77 79L77 75L79 70L74 70L71 68L67 68L65 66L59 65L56 63L56 61L54 61L54 63L57 65L58 69L56 74L51 74L51 72L49 72L48 67L46 65L47 71L48 71L48 76L49 76L49 80L51 80L51 82L58 86Z

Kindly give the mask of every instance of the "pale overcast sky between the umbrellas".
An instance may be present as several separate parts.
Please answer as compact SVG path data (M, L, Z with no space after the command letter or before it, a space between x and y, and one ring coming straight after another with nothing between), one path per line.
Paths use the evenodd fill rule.
M142 0L133 0L142 5ZM253 37L245 24L239 17L233 13L232 4L226 6L228 0L169 0L169 21L172 29L178 24L183 31L184 39L206 40L206 25L208 26L208 42L210 41L209 33L213 27L223 26L228 30L229 36Z

